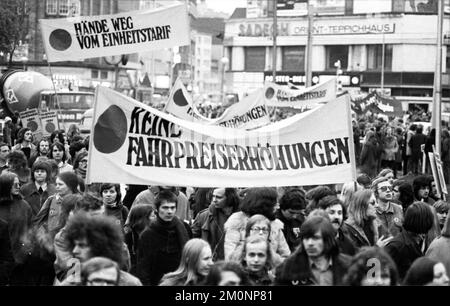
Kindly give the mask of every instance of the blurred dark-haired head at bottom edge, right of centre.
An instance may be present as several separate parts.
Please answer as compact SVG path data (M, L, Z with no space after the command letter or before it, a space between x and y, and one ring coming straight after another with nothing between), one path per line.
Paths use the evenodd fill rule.
M397 286L397 267L383 248L363 247L353 256L343 284L346 286Z

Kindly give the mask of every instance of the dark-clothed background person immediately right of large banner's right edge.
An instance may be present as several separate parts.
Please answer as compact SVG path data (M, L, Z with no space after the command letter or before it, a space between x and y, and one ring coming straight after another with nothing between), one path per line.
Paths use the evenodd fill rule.
M359 160L361 173L367 174L370 178L374 178L377 173L380 147L375 132L367 131Z

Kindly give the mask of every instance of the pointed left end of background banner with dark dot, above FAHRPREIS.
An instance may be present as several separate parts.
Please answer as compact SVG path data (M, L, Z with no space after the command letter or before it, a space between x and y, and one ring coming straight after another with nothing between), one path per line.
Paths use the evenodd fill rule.
M205 124L212 121L199 113L180 77L176 79L170 90L164 111L186 121Z

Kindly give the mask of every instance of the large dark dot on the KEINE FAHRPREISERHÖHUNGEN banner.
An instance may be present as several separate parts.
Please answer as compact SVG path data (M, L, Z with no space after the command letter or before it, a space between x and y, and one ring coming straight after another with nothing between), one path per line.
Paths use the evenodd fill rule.
M120 149L127 138L127 117L120 107L112 105L98 117L94 127L94 146L110 154Z

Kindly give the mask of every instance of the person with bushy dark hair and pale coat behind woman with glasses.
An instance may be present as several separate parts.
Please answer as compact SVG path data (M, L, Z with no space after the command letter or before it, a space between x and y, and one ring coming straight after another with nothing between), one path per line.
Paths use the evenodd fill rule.
M275 265L291 254L283 234L283 223L275 217L277 196L274 188L249 188L246 191L241 202L241 211L233 213L225 223L225 260L229 259L239 243L245 240L247 221L256 214L261 214L271 221L270 243L275 253Z

